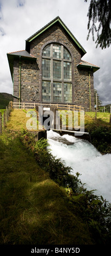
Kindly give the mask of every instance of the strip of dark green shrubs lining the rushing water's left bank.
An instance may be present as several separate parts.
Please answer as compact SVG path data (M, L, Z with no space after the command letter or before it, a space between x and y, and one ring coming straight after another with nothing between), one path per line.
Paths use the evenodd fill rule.
M55 159L50 151L46 150L45 139L35 143L32 135L24 131L21 140L27 149L34 152L39 166L50 175L50 178L66 189L70 210L73 210L73 213L76 212L76 216L82 217L84 224L87 224L92 243L109 243L111 239L111 205L102 196L95 196L94 191L84 189L84 184L79 179L80 174L71 175L71 169L65 166L61 159Z

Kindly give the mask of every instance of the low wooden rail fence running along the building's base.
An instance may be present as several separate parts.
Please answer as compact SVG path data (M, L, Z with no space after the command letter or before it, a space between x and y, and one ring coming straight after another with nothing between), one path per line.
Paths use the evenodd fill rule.
M83 111L84 108L81 106L71 105L71 104L52 104L52 103L27 103L27 102L14 102L14 108L35 108L36 106L43 106L43 107L51 107L55 106L58 110L67 110L67 111Z

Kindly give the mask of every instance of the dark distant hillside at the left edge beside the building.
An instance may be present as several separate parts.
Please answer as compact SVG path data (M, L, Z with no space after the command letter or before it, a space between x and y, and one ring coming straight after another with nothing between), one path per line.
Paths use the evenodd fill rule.
M13 96L9 93L0 93L0 109L6 108L9 101L13 101Z

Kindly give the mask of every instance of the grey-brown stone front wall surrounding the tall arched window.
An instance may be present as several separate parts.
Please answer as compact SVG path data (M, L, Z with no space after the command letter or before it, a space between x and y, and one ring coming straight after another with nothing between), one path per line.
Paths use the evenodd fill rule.
M51 42L58 42L68 48L72 57L72 103L81 105L89 111L89 72L77 69L77 64L81 62L81 52L57 24L30 42L30 53L37 58L37 62L21 60L21 101L42 102L42 50ZM93 72L90 73L90 92L92 110L94 110ZM18 62L14 63L14 95L19 96Z

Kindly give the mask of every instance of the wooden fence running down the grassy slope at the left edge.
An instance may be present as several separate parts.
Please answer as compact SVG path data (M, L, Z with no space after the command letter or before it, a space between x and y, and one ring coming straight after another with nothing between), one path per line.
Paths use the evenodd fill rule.
M3 114L0 112L0 135L2 134L2 129L5 127L6 123L9 120L10 112L12 111L13 103L12 101L9 102L8 107L4 110Z

